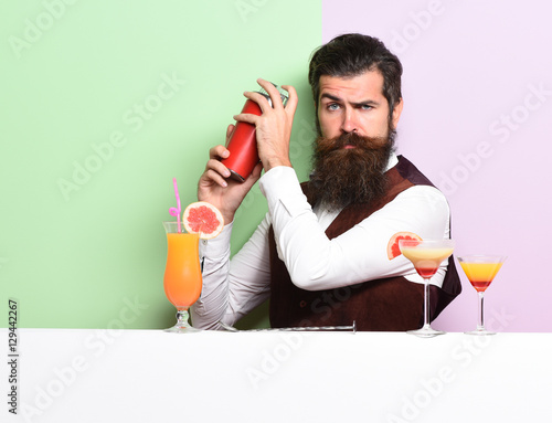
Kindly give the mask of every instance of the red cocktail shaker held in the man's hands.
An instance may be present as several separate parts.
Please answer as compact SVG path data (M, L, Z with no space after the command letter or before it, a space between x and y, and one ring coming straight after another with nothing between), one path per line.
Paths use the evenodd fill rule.
M277 85L274 86L278 89L282 103L285 106L287 103L287 94ZM261 88L257 93L264 95L268 99L268 103L272 104L270 96L266 91ZM262 115L258 104L251 99L245 102L242 113L257 116ZM229 168L232 179L244 182L250 177L255 165L259 161L255 125L238 121L230 136L226 148L230 150L230 156L221 160L222 163Z

